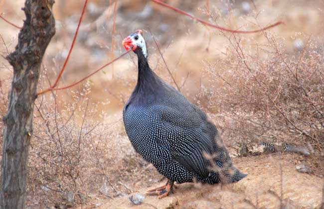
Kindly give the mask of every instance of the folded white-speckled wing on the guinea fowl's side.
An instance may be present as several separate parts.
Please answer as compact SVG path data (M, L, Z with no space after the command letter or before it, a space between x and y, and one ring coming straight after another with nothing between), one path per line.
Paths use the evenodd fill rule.
M206 156L214 154L216 127L188 101L163 109L163 138L169 143L172 159L188 171L208 177L210 162Z

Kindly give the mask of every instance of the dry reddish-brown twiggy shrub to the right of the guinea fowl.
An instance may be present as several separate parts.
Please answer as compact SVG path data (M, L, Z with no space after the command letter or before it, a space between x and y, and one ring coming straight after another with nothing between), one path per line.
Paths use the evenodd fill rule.
M228 138L251 148L260 141L324 149L324 57L314 40L304 51L285 52L285 40L263 33L266 44L226 36L227 59L207 63L213 91L209 107ZM251 42L252 44L246 44Z

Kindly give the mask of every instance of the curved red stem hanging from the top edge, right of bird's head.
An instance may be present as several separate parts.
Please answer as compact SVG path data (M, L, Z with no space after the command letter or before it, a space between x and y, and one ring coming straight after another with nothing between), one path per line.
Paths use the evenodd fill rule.
M249 31L231 30L231 29L228 29L228 28L224 28L224 27L221 27L221 26L211 24L211 23L209 23L209 22L207 22L205 20L199 19L199 18L197 18L197 17L195 17L195 16L193 16L193 15L191 15L191 14L189 14L189 13L187 13L187 12L185 12L185 11L179 9L179 8L175 8L175 7L173 7L173 6L171 6L171 5L167 4L167 3L163 3L161 0L152 0L152 1L158 3L158 4L162 5L162 6L165 6L167 8L170 8L170 9L172 9L172 10L178 12L178 13L184 14L184 15L190 17L191 19L194 19L194 20L196 20L196 21L198 21L198 22L200 22L200 23L202 23L204 25L207 25L207 26L219 29L219 30L224 30L224 31L227 31L227 32L232 32L232 33L256 33L256 32L261 32L261 31L267 30L269 28L275 27L275 26L280 25L280 24L283 23L282 21L278 21L278 22L276 22L276 23L274 23L272 25L269 25L267 27L264 27L264 28L261 28L261 29L258 29L258 30L249 30Z

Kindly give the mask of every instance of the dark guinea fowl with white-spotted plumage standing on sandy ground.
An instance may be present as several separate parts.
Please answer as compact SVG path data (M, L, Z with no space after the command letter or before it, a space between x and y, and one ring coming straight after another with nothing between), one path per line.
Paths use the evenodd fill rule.
M168 181L146 194L166 197L173 183L233 183L246 174L236 169L215 125L196 105L157 76L148 64L142 30L123 40L138 57L137 85L125 104L126 133L143 158Z

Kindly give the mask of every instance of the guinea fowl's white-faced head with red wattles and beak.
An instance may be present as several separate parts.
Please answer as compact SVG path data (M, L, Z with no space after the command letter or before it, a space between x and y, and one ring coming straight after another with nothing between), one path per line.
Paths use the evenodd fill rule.
M132 49L138 56L143 55L148 58L148 51L146 49L145 40L142 30L137 30L123 40L123 45L126 50Z

